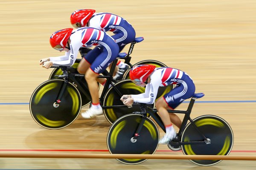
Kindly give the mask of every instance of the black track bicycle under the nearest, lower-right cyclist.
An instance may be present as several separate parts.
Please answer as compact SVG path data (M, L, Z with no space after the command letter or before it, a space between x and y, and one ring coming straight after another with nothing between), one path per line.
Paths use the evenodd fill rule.
M168 110L169 113L184 114L183 122L175 139L169 142L172 150L182 150L185 155L228 155L233 147L233 131L221 117L203 115L191 119L190 113L195 99L203 93L194 94L186 111ZM140 111L124 115L110 127L107 136L111 154L154 154L158 147L159 130L165 131L157 110L141 103ZM151 116L150 119L147 114ZM157 125L156 125L156 123ZM117 159L125 164L139 164L146 159ZM209 166L221 160L190 160L195 164Z

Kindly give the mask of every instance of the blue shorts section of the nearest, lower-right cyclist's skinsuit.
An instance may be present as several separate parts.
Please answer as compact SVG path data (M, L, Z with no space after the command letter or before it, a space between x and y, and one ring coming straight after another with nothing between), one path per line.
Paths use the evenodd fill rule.
M168 106L172 109L177 108L180 103L182 103L185 99L189 99L192 97L193 94L195 94L195 84L190 79L187 77L185 80L185 85L179 84L176 85L174 89L172 89L168 94L165 94L163 96L164 100L168 104ZM181 96L179 95L177 98L177 94L182 94Z

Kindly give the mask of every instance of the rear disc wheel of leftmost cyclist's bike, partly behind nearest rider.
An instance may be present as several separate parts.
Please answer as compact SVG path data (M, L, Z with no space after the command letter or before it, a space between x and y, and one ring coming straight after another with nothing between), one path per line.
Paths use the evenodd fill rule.
M145 92L144 87L140 87L131 82L130 79L121 80L115 84L121 94L141 94ZM135 111L140 111L140 105L133 105L132 108L125 106L120 100L121 96L113 87L109 88L104 96L103 106L116 106L115 108L103 109L104 115L108 122L113 124L116 119ZM120 107L117 107L120 106ZM154 108L154 104L148 105Z

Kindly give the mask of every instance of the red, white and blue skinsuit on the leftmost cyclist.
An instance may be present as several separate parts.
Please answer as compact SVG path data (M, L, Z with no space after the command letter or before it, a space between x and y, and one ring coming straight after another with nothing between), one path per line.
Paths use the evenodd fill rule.
M101 49L99 54L93 56L90 69L100 74L108 67L109 63L116 59L119 47L111 36L96 28L82 27L73 30L70 35L70 50L64 56L50 57L50 61L52 61L53 66L72 66L75 63L80 47L96 45L101 45Z

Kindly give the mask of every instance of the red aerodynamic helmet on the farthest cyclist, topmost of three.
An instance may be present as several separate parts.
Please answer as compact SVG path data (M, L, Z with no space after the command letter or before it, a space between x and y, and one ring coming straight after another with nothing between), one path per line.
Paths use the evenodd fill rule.
M80 28L86 26L90 18L95 13L94 9L80 9L74 11L70 16L70 22L73 27Z

